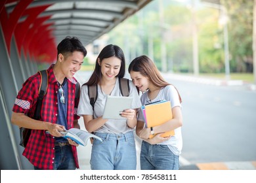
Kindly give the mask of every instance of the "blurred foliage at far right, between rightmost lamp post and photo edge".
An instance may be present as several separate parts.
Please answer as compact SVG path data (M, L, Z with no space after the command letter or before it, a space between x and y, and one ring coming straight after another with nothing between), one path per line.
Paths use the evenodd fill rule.
M230 64L233 72L253 70L253 1L221 0L229 17Z

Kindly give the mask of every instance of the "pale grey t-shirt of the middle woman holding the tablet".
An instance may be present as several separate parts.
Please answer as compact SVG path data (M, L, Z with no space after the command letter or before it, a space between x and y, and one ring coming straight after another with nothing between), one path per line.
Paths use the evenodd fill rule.
M121 92L119 90L119 78L116 79L116 84L114 86L114 89L110 93L112 96L122 96ZM133 82L129 80L129 87L130 87L130 93L129 97L133 97L131 108L140 108L140 97L137 92L137 89ZM107 95L105 93L102 93L102 90L100 89L100 86L98 86L98 98L95 102L95 110L93 111L93 107L90 104L89 96L88 96L88 87L87 85L83 85L81 87L81 95L79 100L79 105L77 108L77 115L83 116L83 115L93 115L93 118L98 118L103 115L104 106L106 104L106 97ZM128 131L134 131L134 129L131 129L127 125L127 120L108 120L102 127L97 129L95 132L98 133L127 133Z

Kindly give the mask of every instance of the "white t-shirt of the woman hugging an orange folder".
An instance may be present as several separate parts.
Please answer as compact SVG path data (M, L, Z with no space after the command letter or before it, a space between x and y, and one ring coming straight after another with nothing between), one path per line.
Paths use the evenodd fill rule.
M148 91L144 92L140 97L142 105L146 105L147 103L153 103L161 100L171 101L172 108L177 106L181 107L181 103L179 101L179 94L175 87L172 85L168 85L164 88L161 88L160 92L158 93L158 96L156 96L154 100L150 101L150 99L148 98ZM144 117L141 110L139 110L138 120L144 122ZM161 142L160 144L167 145L171 152L173 152L173 154L179 156L181 154L182 149L181 127L175 129L175 135L171 136L171 138L168 141Z

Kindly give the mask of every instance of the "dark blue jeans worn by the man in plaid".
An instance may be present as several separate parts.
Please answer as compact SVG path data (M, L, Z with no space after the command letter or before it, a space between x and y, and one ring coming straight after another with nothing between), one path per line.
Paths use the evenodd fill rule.
M34 167L35 170L40 170ZM71 146L55 146L54 170L75 170Z

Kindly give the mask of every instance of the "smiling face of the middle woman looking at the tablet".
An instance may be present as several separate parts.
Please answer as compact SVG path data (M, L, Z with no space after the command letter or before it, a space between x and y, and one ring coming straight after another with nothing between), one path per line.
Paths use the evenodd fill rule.
M98 64L100 65L102 78L106 80L112 80L118 75L120 71L121 59L110 57L102 59L101 62L98 59Z

